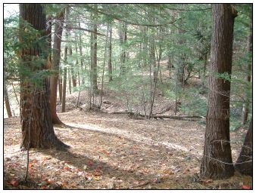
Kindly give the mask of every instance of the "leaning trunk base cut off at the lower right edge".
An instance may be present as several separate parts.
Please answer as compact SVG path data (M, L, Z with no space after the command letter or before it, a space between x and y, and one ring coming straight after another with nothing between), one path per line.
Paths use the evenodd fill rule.
M252 119L235 167L240 173L252 176Z

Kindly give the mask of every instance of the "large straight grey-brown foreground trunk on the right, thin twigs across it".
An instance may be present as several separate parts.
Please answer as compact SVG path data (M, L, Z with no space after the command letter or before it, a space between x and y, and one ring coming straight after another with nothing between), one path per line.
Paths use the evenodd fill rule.
M214 4L209 76L208 113L204 136L201 176L224 179L233 176L234 167L229 142L230 78L233 55L233 25L237 15L229 4Z

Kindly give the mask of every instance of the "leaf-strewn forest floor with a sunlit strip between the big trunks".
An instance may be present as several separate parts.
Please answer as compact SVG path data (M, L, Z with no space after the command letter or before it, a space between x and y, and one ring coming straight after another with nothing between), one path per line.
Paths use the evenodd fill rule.
M249 176L199 179L204 125L197 121L136 120L128 115L58 113L55 127L67 152L30 150L28 182L23 182L27 152L20 151L19 118L4 120L4 188L41 189L241 189ZM231 132L233 161L245 130Z

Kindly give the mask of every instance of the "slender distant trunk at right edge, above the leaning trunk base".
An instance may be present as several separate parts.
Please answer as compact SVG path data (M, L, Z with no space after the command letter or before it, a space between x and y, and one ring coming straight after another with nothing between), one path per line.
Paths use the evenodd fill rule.
M250 35L248 36L248 43L247 43L247 51L249 54L251 54L252 52L252 16L250 16ZM246 81L248 81L248 84L250 84L251 82L251 63L248 63L248 75L246 77ZM247 88L247 91L249 90L249 88ZM248 95L248 93L246 93L246 103L243 104L242 106L242 124L245 124L247 119L248 119L248 112L249 112L249 100L250 100L250 96Z

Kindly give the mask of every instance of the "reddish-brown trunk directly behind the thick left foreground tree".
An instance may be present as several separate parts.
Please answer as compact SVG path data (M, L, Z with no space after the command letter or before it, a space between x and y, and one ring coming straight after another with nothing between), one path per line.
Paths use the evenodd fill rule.
M52 70L54 74L50 78L50 106L53 124L62 124L56 113L56 101L57 101L57 88L58 88L58 73L61 60L61 38L63 32L64 12L58 13L55 19L55 35L52 51ZM61 94L60 94L61 96Z

